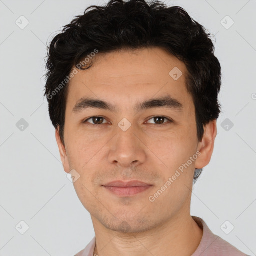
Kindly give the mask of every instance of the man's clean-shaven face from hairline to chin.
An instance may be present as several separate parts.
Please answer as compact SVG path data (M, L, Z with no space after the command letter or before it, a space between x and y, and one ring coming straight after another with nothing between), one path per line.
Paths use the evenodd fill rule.
M62 162L66 172L74 169L80 175L74 188L81 203L94 224L116 231L148 230L189 214L199 161L194 155L200 143L194 104L185 87L185 64L158 47L98 53L94 60L90 69L78 71L70 80L65 111ZM169 74L174 67L183 73L178 79ZM143 101L166 96L183 106L134 109ZM87 97L111 103L115 111L81 104L73 110ZM188 161L190 157L193 160ZM176 170L180 175L166 184ZM115 180L151 186L120 195L103 186Z

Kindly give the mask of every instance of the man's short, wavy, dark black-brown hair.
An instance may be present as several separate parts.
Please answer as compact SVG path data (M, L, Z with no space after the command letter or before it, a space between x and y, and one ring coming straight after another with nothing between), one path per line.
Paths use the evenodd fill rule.
M183 8L168 7L158 0L110 0L105 6L87 7L83 15L63 26L47 47L44 96L51 122L55 128L59 126L62 143L67 78L72 68L95 49L108 53L145 47L161 47L184 62L186 88L193 98L197 137L201 141L204 125L218 118L221 107L217 98L221 67L210 35ZM195 170L194 180L201 171Z

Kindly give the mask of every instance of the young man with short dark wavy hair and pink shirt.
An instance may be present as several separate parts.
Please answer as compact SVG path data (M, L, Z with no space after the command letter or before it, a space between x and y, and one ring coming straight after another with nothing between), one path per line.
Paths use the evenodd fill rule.
M245 255L190 215L220 113L209 34L160 2L89 8L53 38L46 64L63 167L95 230L76 255Z

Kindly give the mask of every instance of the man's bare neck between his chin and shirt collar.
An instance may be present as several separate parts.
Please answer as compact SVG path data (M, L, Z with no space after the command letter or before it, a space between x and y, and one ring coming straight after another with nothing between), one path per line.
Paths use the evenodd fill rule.
M92 217L96 246L93 255L192 255L198 247L203 230L190 216L176 216L161 226L141 233L123 233L104 229ZM101 226L100 226L101 225Z

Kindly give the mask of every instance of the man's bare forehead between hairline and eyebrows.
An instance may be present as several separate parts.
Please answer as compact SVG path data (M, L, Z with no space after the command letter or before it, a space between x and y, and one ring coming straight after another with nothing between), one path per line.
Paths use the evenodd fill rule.
M87 70L78 70L69 81L67 108L82 97L119 102L123 107L170 95L191 101L185 86L185 64L159 47L97 53Z

